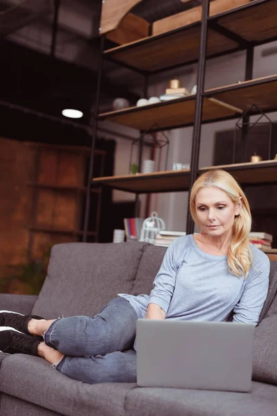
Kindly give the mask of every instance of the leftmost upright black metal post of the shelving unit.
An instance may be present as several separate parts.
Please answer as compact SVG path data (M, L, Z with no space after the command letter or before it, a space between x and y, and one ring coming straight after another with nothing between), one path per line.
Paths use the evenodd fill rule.
M94 151L95 151L95 145L96 145L96 135L97 135L97 125L98 125L98 111L99 111L99 103L100 103L100 86L101 86L101 79L102 79L104 44L105 44L105 36L102 36L101 44L100 44L100 56L99 56L99 62L98 62L98 78L97 78L97 90L96 90L96 98L95 98L95 105L94 105L93 132L91 135L91 157L89 161L89 173L87 177L87 197L86 197L86 207L84 210L84 232L82 234L83 243L87 241L87 230L89 226L89 211L90 211L90 205L91 205L91 180L93 178Z

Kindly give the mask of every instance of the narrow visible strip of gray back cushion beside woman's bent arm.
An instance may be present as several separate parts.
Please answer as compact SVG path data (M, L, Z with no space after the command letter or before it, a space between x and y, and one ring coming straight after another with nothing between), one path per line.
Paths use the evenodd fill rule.
M166 247L147 244L143 248L143 257L139 263L139 270L132 289L132 295L150 294L153 281L166 254Z

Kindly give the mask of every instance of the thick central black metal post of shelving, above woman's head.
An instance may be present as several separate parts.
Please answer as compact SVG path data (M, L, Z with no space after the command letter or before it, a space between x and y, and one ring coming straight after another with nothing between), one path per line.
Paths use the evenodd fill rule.
M195 98L195 119L193 128L193 148L190 158L190 189L197 177L197 170L199 164L199 150L201 139L201 127L202 127L202 108L203 108L203 93L204 93L204 81L205 81L205 69L206 69L206 50L207 50L207 18L209 1L202 3L202 26L199 48L199 62L197 71L197 93ZM190 215L190 209L188 209L186 220L186 232L187 234L193 234L194 223L193 218Z

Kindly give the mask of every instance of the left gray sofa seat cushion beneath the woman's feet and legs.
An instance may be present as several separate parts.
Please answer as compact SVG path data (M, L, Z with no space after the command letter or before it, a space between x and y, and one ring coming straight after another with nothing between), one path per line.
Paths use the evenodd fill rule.
M66 416L121 416L134 383L90 385L55 370L43 358L24 354L3 361L1 391Z

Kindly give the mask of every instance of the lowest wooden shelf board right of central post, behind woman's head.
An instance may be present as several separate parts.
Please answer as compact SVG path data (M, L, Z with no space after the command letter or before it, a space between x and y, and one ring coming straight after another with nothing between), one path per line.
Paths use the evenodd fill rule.
M277 160L265 160L258 163L238 163L200 168L199 173L209 169L222 168L228 171L242 184L277 182Z

